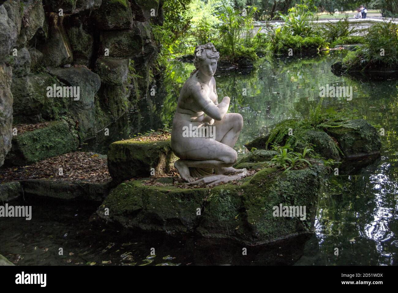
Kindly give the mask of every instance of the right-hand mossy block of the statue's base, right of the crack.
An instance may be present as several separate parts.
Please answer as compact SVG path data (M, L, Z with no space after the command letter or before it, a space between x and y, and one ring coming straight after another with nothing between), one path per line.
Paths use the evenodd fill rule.
M265 168L242 185L219 185L211 189L197 229L211 238L235 239L261 244L306 232L316 214L318 195L326 168L312 168L283 174ZM273 206L305 206L306 219L273 216Z

